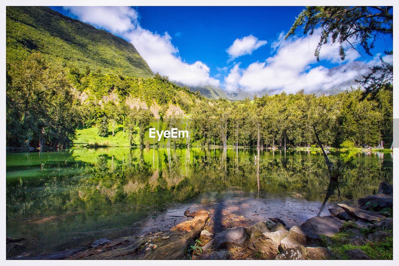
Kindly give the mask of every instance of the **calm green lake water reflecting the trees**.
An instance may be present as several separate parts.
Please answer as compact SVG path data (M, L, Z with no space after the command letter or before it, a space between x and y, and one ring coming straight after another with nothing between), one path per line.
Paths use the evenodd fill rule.
M167 230L186 209L212 230L279 217L287 226L392 183L392 153L359 152L338 186L308 151L71 149L6 155L7 257L87 246L99 238ZM258 181L259 178L259 181ZM323 204L325 202L325 204Z

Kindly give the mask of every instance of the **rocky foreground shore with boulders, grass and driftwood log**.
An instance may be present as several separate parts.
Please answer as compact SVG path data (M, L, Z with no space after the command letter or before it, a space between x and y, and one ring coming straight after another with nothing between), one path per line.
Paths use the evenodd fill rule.
M287 227L280 218L251 226L233 226L214 234L209 212L186 211L193 217L170 230L102 238L90 247L13 259L392 259L393 188L383 182L378 193L359 205L337 204L331 215L314 216Z

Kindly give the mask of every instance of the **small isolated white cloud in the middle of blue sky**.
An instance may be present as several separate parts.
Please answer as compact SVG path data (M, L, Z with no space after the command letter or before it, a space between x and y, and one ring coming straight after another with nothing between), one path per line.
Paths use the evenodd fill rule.
M229 54L231 59L234 59L246 54L252 54L253 51L265 44L267 44L267 41L260 41L253 35L245 36L241 39L237 38L227 49L227 54Z

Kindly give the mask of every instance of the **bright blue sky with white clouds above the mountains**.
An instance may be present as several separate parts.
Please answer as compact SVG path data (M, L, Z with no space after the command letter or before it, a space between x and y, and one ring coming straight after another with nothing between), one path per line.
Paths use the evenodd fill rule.
M297 36L282 40L303 9L298 6L51 8L131 42L154 72L172 81L231 91L294 92L298 84L308 91L328 90L332 81L338 82L336 77L327 80L328 69L348 65L343 67L345 75L337 77L342 82L354 79L365 70L355 73L351 62L371 66L377 54L393 46L385 36L385 41L376 42L373 57L352 52L345 61L339 60L337 48L326 46L316 62L317 35L302 36L299 30Z

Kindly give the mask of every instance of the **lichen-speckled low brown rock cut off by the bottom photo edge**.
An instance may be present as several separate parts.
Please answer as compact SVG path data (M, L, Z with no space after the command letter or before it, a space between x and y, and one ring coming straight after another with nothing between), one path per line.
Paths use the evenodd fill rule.
M334 255L327 248L305 248L304 246L297 246L295 248L288 248L276 257L276 260L329 260Z

